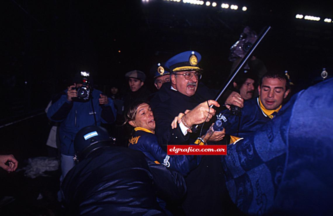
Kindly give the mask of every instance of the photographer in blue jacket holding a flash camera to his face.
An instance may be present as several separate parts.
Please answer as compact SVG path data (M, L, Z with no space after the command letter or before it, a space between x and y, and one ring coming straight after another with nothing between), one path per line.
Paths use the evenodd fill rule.
M90 73L81 71L75 75L74 84L52 100L47 111L49 119L61 122L60 138L62 181L67 172L74 167L74 138L76 133L89 125L101 125L115 121L116 109L113 100L93 89Z

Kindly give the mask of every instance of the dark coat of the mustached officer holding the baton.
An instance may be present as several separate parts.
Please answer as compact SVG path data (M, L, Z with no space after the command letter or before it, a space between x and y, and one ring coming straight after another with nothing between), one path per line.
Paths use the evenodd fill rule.
M188 133L184 136L179 125L172 130L170 126L172 120L179 112L193 109L206 100L214 99L217 91L209 90L199 84L196 93L188 97L171 90L170 86L170 82L163 84L150 102L156 121L155 133L160 145L188 145L193 143L199 134ZM210 124L205 125L209 127ZM186 176L187 195L182 205L186 215L234 213L235 207L226 192L220 160L219 156L203 156L199 166Z

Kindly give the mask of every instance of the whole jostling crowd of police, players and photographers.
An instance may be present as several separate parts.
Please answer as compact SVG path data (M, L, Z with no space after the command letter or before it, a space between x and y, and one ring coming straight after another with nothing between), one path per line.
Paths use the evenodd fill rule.
M307 106L319 104L316 109L331 108L332 95L323 102L320 93L333 88L332 79L290 99L290 80L284 72L262 74L250 67L215 101L218 91L199 82L209 73L200 67L200 60L198 52L185 51L158 63L155 93L145 86L147 76L140 70L125 74L129 93L121 95L113 85L110 97L93 88L90 72L81 71L73 84L52 98L46 112L56 123L54 142L60 151L58 200L68 212L313 214L312 204L305 207L313 193L321 200L315 202L321 208L317 212L332 210L327 201L331 195L324 193L332 189L327 180L331 174L324 168L316 172L308 160L332 161L328 143L333 138L326 134L319 142L318 134L303 128L308 121L312 130L321 125L329 133L332 112L307 120L299 111L308 101L312 102ZM315 115L311 110L304 112ZM216 120L223 120L223 129L213 129ZM325 157L297 152L302 135L308 137L305 150L312 141L325 147ZM168 155L168 145L227 145L228 154ZM1 156L0 162L8 172L17 167L13 156ZM307 178L314 183L302 193L310 182ZM283 199L292 203L287 205Z

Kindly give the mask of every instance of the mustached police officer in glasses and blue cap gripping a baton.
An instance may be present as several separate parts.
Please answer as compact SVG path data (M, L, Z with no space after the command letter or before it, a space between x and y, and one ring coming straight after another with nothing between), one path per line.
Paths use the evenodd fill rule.
M190 134L189 129L194 124L212 118L215 109L208 105L219 107L216 101L209 100L214 98L217 92L198 82L202 76L202 69L198 65L200 60L201 55L198 52L185 51L166 62L166 67L170 69L171 82L163 84L150 102L156 121L155 132L163 148L167 144L194 143L198 134ZM240 95L238 94L237 98L234 96L235 94L230 95L228 103L242 106ZM172 130L170 123L179 112L185 110L190 111L186 112L176 129ZM209 144L210 141L218 141L223 137L224 130L200 138L203 138L202 142ZM231 208L232 203L226 194L219 161L220 157L202 157L199 166L186 177L187 196L183 203L186 215L222 215Z

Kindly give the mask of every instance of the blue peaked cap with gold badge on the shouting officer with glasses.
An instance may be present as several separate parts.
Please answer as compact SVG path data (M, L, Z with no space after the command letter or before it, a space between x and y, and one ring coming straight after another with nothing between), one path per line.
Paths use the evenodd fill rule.
M171 57L166 62L166 67L171 73L177 71L200 71L202 70L198 63L201 60L201 55L196 51L185 51Z

